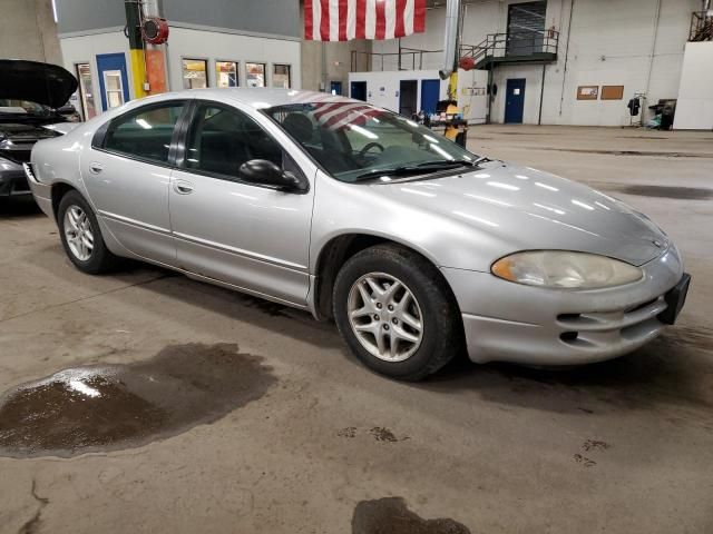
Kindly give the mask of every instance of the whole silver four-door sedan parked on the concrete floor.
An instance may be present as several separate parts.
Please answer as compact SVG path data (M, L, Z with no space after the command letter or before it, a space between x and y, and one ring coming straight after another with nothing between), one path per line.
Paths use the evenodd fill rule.
M690 277L623 202L324 93L193 90L43 140L26 167L82 271L149 261L333 318L369 367L570 365L673 324Z

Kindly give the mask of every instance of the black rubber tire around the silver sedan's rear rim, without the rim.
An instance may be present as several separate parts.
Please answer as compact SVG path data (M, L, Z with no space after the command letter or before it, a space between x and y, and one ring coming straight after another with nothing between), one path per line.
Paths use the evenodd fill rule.
M87 218L89 219L89 224L91 226L91 234L94 236L94 248L91 250L91 255L86 260L77 257L67 243L67 235L65 231L65 215L67 214L67 210L72 206L80 208L87 215ZM118 266L119 258L111 254L111 251L104 243L104 237L101 236L97 216L91 209L91 206L89 206L89 204L78 191L68 191L59 201L59 207L57 209L57 226L59 227L59 236L62 240L65 253L69 257L69 260L75 264L75 267L77 267L82 273L87 273L88 275L100 275L101 273L108 273Z

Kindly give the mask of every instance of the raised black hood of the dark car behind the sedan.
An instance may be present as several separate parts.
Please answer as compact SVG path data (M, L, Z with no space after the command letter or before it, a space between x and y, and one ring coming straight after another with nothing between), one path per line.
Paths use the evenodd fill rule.
M76 90L77 79L57 65L0 59L0 99L30 100L59 108Z

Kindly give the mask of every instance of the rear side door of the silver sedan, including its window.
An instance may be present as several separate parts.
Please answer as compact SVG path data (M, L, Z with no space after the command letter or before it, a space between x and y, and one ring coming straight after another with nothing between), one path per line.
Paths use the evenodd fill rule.
M129 251L174 265L168 187L172 147L186 106L168 100L133 109L99 129L81 158L97 215Z

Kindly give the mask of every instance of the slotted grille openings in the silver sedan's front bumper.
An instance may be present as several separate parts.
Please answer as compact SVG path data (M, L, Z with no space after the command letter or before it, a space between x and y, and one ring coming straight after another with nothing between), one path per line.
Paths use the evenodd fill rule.
M661 328L656 318L668 305L663 295L645 303L614 312L560 314L557 326L563 328L563 343L580 347L598 347L617 342L634 342Z

